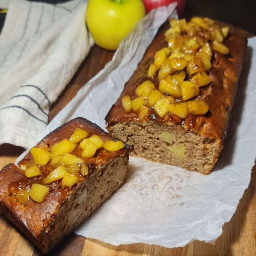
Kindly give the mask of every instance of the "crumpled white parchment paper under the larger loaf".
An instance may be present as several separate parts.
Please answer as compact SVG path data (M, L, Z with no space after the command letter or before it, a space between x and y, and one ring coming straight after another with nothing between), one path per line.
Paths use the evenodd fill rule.
M81 116L105 128L104 118L174 6L151 12L123 41L112 61L50 122L40 138ZM130 158L126 183L76 233L114 245L144 242L184 246L214 242L247 188L256 156L256 38L249 39L225 147L208 176ZM34 143L31 145L33 146ZM22 157L22 156L21 156Z

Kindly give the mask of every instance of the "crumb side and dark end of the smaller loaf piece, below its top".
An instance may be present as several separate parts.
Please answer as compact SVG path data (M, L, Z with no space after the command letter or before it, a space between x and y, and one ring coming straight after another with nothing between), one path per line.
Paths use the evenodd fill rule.
M127 173L128 154L113 158L105 165L92 170L90 177L75 188L61 204L51 222L35 236L10 210L10 197L4 198L0 210L25 233L37 247L46 253L58 242L75 230L86 218L101 206L119 187ZM22 207L22 206L21 206Z

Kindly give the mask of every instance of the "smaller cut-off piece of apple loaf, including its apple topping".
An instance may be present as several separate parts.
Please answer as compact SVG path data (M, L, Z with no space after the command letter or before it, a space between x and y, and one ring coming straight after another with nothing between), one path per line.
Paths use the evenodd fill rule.
M75 118L0 172L0 212L47 252L124 182L129 146Z

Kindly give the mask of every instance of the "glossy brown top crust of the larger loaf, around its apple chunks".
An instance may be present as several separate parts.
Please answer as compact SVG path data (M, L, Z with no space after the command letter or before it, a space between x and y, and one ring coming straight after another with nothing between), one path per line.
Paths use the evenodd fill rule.
M135 98L136 87L144 80L149 80L147 77L147 71L150 63L153 62L155 52L167 46L163 36L167 27L168 24L166 23L161 28L158 36L147 49L133 76L127 81L117 102L108 112L105 118L108 126L111 126L116 122L141 122L137 118L136 113L125 113L122 107L122 97L124 95L129 95L131 99ZM221 141L224 139L224 133L228 126L229 113L234 102L236 86L241 73L242 64L244 62L247 39L241 37L240 34L234 34L228 36L224 43L230 49L229 55L224 56L217 52L213 52L213 68L209 73L212 83L200 88L201 97L209 106L209 113L204 116L190 115L183 122L181 119L169 114L164 118L160 118L156 113L150 113L147 117L148 120L163 122L167 126L173 126L174 123L180 123L180 125L186 130L199 133L203 137L218 139ZM152 80L152 82L155 87L158 88L158 82L156 80Z

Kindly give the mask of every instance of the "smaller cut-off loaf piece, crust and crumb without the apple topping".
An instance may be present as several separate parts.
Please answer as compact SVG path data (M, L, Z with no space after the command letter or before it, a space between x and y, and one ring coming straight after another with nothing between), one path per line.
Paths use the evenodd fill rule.
M110 135L100 127L84 118L76 118L47 135L36 147L52 148L63 139L70 138L75 128L86 130L89 135L99 135L103 142L112 141ZM53 160L45 166L39 166L41 175L27 178L22 169L31 165L33 157L31 153L28 153L18 163L22 169L10 164L0 172L0 211L42 252L48 252L123 184L127 172L128 153L127 145L118 151L100 148L94 156L85 158L81 156L82 150L78 144L72 154L87 164L88 173L87 175L81 175L80 171L75 174L68 173L68 175L78 177L78 181L71 187L63 187L64 178L44 183L45 178L49 177L56 167L50 166ZM68 166L65 165L65 167L68 170ZM34 183L44 184L49 188L44 201L38 203L34 201L34 198L29 197L27 203L20 203L22 201L17 199L18 192L23 189L31 192Z

